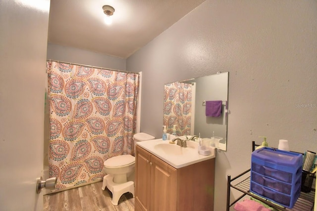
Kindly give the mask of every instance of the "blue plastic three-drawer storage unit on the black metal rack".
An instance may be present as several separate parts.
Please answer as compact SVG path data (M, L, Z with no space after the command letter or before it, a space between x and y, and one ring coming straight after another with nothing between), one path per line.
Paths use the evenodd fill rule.
M251 156L250 190L287 208L301 191L303 155L263 147Z

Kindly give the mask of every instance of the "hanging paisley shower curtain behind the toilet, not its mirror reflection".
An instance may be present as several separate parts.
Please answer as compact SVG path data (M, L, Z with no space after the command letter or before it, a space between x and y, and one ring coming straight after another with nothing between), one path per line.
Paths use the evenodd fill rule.
M47 71L56 191L99 181L104 161L133 153L139 75L53 61Z

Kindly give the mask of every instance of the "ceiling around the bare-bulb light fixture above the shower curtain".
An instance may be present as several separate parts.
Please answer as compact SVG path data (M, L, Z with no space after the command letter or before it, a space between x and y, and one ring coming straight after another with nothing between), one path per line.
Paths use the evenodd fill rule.
M49 42L127 58L205 0L51 0ZM104 23L103 5L114 7Z

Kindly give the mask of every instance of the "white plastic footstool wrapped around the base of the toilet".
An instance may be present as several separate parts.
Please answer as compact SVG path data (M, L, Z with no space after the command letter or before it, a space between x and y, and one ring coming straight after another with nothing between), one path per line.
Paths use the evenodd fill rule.
M114 206L118 205L118 201L122 194L130 192L132 193L132 196L134 197L134 182L128 181L125 183L114 183L113 182L113 176L110 174L107 174L104 176L103 186L102 190L105 190L106 187L109 191L112 193L112 201L111 204Z

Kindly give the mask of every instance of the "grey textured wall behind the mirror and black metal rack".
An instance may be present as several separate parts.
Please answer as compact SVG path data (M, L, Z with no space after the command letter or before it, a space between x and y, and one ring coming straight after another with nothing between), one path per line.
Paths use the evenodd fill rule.
M250 167L251 141L317 151L317 1L207 0L127 59L143 72L141 131L161 137L163 84L229 71L228 145L217 152L215 211L226 176Z

